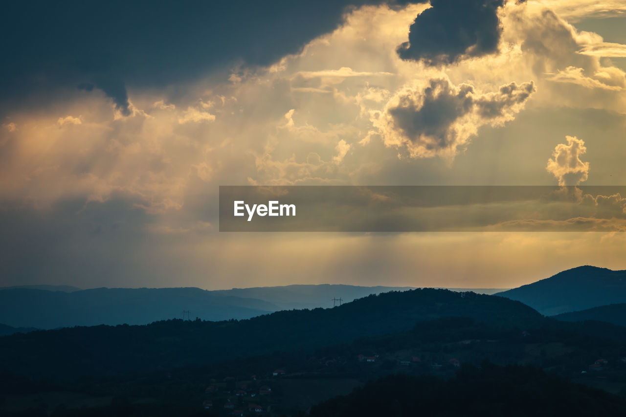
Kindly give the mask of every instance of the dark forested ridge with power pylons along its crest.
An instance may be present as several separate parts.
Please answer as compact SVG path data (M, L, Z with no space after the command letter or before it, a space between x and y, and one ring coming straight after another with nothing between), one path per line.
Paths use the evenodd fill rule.
M27 376L148 371L274 351L310 351L361 336L411 329L437 317L526 327L543 317L521 302L437 289L388 292L333 309L280 311L242 321L74 327L0 337L0 369Z

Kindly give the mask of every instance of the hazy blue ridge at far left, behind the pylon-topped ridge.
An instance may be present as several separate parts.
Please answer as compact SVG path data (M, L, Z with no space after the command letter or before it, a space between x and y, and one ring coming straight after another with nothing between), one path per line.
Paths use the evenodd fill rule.
M267 301L215 296L199 288L96 288L74 292L16 288L0 290L0 322L54 329L99 324L147 324L182 317L245 319L276 311Z

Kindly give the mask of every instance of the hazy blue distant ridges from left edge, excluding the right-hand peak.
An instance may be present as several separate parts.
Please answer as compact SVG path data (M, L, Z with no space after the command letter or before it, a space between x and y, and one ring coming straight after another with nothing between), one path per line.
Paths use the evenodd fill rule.
M370 294L412 287L292 285L221 291L199 288L96 288L16 286L0 288L0 323L56 329L99 324L148 324L183 316L220 321L269 312L332 307ZM461 289L454 289L461 291ZM473 289L491 294L497 289ZM332 299L341 301L333 302ZM185 317L187 318L187 317Z

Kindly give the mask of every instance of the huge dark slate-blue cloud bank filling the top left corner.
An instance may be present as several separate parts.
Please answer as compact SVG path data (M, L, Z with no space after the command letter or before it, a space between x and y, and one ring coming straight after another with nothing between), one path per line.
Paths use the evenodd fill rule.
M3 4L0 112L92 86L128 114L126 86L165 86L242 60L265 65L341 22L327 1L28 1Z

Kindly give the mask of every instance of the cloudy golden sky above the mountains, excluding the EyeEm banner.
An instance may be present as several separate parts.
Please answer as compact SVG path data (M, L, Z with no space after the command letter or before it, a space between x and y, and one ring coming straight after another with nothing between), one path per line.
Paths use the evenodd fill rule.
M3 8L0 286L626 269L618 194L601 232L218 231L220 185L625 185L626 0Z

